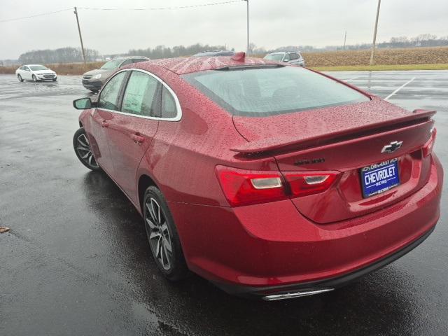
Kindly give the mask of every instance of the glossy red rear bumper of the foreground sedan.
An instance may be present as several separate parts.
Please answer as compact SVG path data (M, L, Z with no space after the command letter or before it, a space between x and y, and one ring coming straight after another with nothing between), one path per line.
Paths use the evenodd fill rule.
M428 237L440 216L442 180L434 155L428 183L413 195L327 225L304 218L290 200L239 208L171 202L170 209L190 269L230 293L337 288Z

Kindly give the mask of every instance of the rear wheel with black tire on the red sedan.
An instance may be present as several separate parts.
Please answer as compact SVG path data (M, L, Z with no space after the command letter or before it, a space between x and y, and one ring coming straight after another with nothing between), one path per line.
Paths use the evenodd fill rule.
M155 201L155 203L153 201ZM157 206L159 207L158 209L160 209L160 216L157 215ZM160 218L161 223L159 223L159 228L162 228L161 230L159 230L159 228L155 228L158 224L154 221L153 214L151 214L151 209L153 209L155 217ZM183 257L179 234L177 232L176 225L174 224L173 216L167 206L167 201L160 190L155 186L150 186L146 189L143 214L148 243L160 272L162 272L162 274L165 275L165 277L170 281L185 279L188 276L189 271L185 258ZM156 232L160 232L159 236L157 236ZM153 235L153 237L151 237L151 235ZM167 247L168 239L170 243L169 246L171 246L172 249L171 253ZM160 249L157 251L159 246ZM163 260L163 255L165 255L165 260L167 263Z

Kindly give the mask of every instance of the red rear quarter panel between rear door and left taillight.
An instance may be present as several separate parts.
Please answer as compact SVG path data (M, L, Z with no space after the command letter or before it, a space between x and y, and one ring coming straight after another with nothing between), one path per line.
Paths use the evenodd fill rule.
M178 122L160 121L158 132L137 172L150 176L169 202L228 207L215 174L216 165L278 170L274 158L241 161L230 151L245 140L230 113L211 102L169 71L151 69L176 92L183 116Z

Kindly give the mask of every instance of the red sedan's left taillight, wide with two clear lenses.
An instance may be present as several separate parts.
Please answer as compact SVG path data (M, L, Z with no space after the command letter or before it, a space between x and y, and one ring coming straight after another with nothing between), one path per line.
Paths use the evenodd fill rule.
M280 172L254 172L224 166L217 166L216 174L232 207L322 193L337 177L335 172L283 172L282 175Z

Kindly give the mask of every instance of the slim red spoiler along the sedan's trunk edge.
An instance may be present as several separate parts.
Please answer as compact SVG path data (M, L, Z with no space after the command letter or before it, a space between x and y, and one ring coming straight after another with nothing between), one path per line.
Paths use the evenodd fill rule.
M248 142L241 144L238 147L230 148L230 151L251 155L258 153L266 153L272 151L285 150L286 148L307 148L309 146L322 146L330 144L336 141L345 141L355 137L363 137L369 134L377 132L385 132L387 130L393 130L398 127L405 127L409 125L415 125L417 123L424 123L432 116L435 115L435 111L428 111L423 109L416 109L407 116L395 118L392 120L385 120L381 123L375 123L371 125L360 126L349 130L343 130L340 132L332 132L327 134L311 135L308 137L297 136L297 139L290 141L289 139L282 139L281 137L262 139L259 141Z

